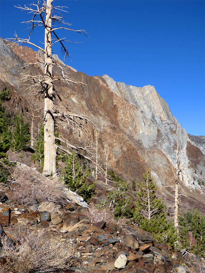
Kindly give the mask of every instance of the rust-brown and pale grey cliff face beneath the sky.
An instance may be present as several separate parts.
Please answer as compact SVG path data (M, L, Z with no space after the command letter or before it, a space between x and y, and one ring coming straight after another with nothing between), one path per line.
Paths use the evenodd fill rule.
M11 100L7 103L10 111L30 113L30 107L39 109L42 100L35 100L30 95L31 88L26 89L22 84L23 75L42 73L42 67L33 66L23 68L25 62L36 60L36 53L23 46L12 49L0 40L0 85L11 88ZM55 56L56 60L59 60ZM165 188L172 184L176 158L176 144L180 144L181 166L185 167L181 177L181 191L188 196L181 201L186 206L194 206L202 210L204 203L204 187L195 183L193 177L204 180L204 154L200 147L196 147L189 139L185 129L171 114L168 104L156 92L153 86L134 87L122 82L116 83L107 75L90 77L77 72L69 66L66 69L76 80L84 83L79 85L63 85L58 83L58 94L62 102L70 111L92 118L94 126L88 126L89 135L84 132L72 132L68 125L61 129L73 144L96 145L96 131L99 133L99 161L105 162L104 147L111 149L109 168L119 173L128 181L142 180L142 173L149 168L159 187L159 194L166 200L173 201L172 188ZM54 74L60 73L54 67ZM37 110L43 116L43 110ZM29 115L27 115L29 117ZM39 120L35 120L36 123ZM203 150L203 149L202 149ZM197 174L194 171L197 171ZM202 175L200 172L202 171Z

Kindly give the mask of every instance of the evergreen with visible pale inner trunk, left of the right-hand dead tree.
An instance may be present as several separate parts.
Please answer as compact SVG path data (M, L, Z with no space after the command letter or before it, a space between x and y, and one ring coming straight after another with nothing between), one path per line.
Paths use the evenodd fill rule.
M165 205L161 198L156 197L157 188L148 169L143 177L143 182L138 184L140 191L137 193L133 220L140 229L154 233L158 242L173 245L177 239L175 229L173 223L166 219Z

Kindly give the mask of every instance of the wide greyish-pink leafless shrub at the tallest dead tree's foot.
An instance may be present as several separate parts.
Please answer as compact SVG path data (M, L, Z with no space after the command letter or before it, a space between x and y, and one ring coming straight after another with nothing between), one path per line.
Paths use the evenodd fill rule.
M32 206L37 200L64 204L63 184L43 176L31 168L14 168L11 198L18 204Z

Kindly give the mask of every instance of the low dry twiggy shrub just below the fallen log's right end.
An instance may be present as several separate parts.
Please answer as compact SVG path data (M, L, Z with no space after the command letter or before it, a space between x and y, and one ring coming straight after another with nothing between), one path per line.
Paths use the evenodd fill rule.
M98 206L94 204L89 204L89 209L87 209L87 214L89 220L91 223L97 223L101 221L105 221L107 223L114 223L116 225L119 225L121 229L125 230L127 228L127 218L114 218L113 211L107 208L99 208Z

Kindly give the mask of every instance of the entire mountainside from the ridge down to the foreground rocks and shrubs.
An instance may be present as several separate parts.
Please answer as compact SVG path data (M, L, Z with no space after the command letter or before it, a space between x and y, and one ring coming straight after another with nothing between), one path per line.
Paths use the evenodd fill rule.
M3 100L9 111L7 117L21 114L30 124L30 130L32 126L35 144L43 124L43 99L37 95L39 90L22 78L43 74L43 66L37 64L43 58L42 53L0 39L0 54L0 90L10 90L8 98ZM81 127L75 128L74 124L60 120L55 123L56 133L71 146L89 148L92 160L81 158L78 162L71 153L72 147L65 145L70 156L58 152L58 177L45 177L39 164L34 163L35 145L29 143L29 148L19 153L13 152L15 144L10 144L10 150L6 151L13 166L5 165L5 158L0 162L10 168L10 173L4 173L7 179L0 184L0 273L201 273L204 226L197 221L203 223L204 218L191 209L204 214L204 136L188 135L153 86L116 83L108 75L91 77L66 66L57 55L52 57L76 82L57 81L55 103L91 121L81 119ZM27 63L34 64L27 66ZM60 73L55 65L53 76ZM15 126L11 126L13 131ZM5 132L11 136L9 130ZM181 224L185 230L184 235L180 230L184 249L177 244L170 221L174 215L172 186L177 143L183 168L179 183L180 213L184 213L183 219L191 221L189 225ZM96 160L96 148L97 177L95 164L91 163ZM75 168L73 182L69 164L73 166L71 170ZM109 170L108 183L105 166ZM5 178L4 174L1 178ZM150 183L152 190L148 195L153 198L151 206L156 219L142 219L137 214L141 201L144 209L143 182ZM142 199L137 201L140 194ZM166 207L157 197L162 197ZM196 250L200 256L187 250Z

